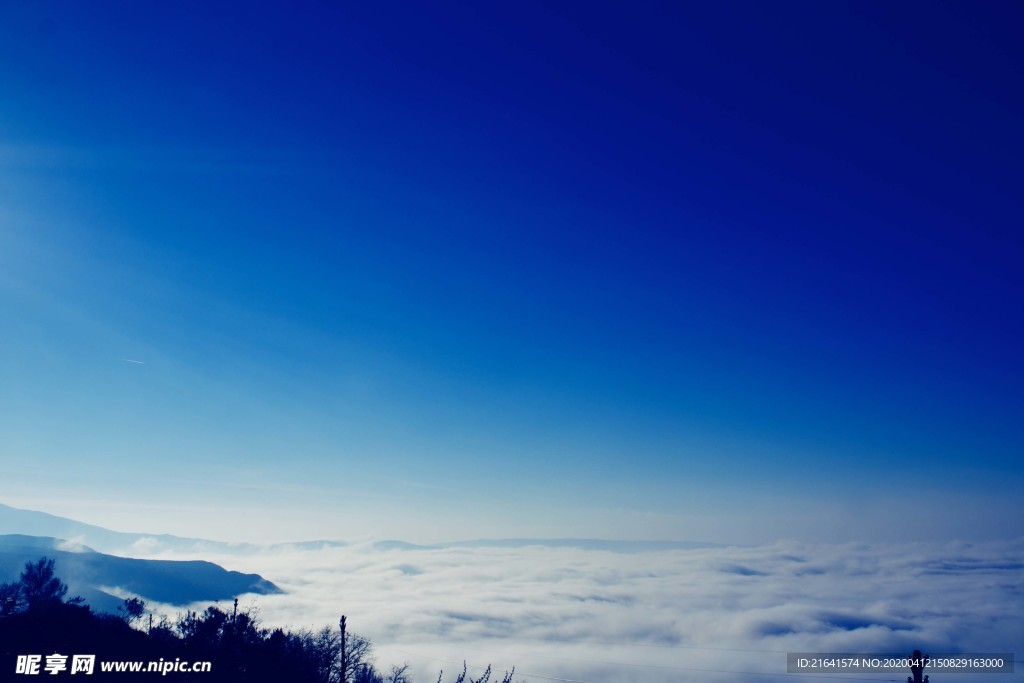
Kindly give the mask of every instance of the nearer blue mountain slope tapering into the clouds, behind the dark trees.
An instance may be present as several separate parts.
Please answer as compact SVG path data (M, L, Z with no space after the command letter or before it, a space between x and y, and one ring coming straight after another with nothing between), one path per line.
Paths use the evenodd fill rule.
M116 557L59 539L23 535L0 536L0 583L15 581L26 562L42 555L54 559L71 594L81 595L100 611L114 611L123 604L104 589L172 605L282 592L259 574L228 571L212 562Z

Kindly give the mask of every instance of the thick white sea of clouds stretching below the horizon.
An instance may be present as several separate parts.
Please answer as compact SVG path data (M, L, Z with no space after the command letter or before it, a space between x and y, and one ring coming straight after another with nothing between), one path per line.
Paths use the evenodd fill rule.
M286 591L243 598L264 624L336 626L344 613L379 668L409 663L418 683L439 670L454 680L464 660L529 682L821 681L851 676L785 676L786 652L1024 649L1024 539L636 553L368 542L203 559ZM932 676L968 680L1024 675Z

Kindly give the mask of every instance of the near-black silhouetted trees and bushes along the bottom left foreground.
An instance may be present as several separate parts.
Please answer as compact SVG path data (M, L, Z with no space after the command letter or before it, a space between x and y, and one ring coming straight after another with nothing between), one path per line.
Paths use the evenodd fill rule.
M380 672L373 647L361 636L340 629L297 632L260 625L251 610L230 613L211 606L202 613L185 612L175 621L145 622L145 604L125 600L118 614L93 612L81 598L67 598L68 587L56 578L53 560L29 562L20 580L0 585L0 679L15 671L18 656L94 654L90 678L131 680L158 676L170 681L296 683L412 683L408 665ZM344 639L344 645L343 645ZM103 672L100 663L135 660L161 663L161 673ZM193 672L181 663L209 661L209 671ZM167 663L167 666L164 666ZM173 665L171 663L174 663ZM143 665L144 666L144 665ZM60 671L70 675L71 668ZM84 673L84 672L82 672ZM438 683L441 677L438 676ZM479 679L465 668L455 683L511 683L512 675L492 680L488 669Z

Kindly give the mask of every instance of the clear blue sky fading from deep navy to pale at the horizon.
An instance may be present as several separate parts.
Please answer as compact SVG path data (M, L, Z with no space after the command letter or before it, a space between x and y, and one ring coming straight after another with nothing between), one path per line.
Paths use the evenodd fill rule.
M372 4L0 8L5 502L1024 533L1019 7Z

